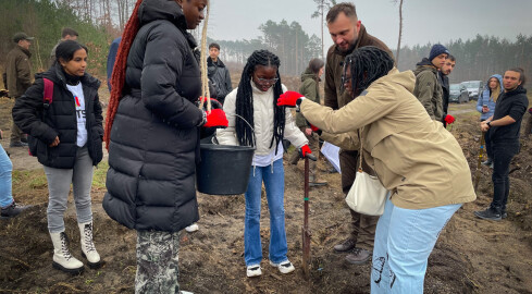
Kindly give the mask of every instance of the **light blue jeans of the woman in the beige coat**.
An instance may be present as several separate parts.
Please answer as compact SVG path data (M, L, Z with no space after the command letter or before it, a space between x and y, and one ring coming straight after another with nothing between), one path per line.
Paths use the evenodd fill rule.
M423 293L429 256L460 207L404 209L387 199L376 224L371 293Z

